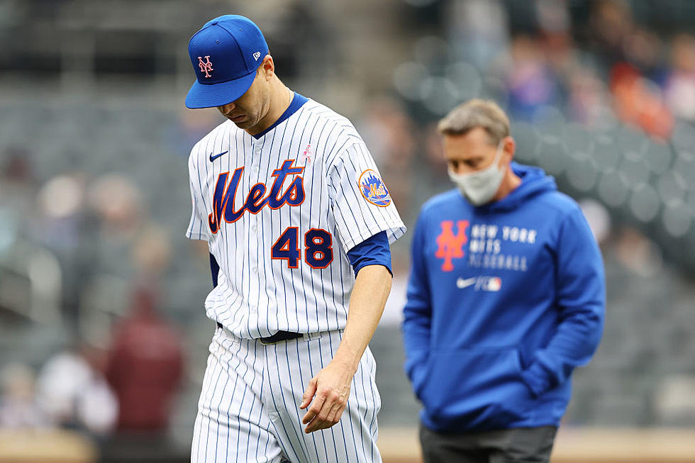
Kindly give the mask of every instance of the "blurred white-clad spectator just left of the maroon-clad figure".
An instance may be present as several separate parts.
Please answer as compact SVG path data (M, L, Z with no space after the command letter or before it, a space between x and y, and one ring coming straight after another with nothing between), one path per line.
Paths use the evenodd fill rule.
M101 373L99 352L87 345L59 352L38 378L38 402L62 428L108 435L116 424L118 402Z

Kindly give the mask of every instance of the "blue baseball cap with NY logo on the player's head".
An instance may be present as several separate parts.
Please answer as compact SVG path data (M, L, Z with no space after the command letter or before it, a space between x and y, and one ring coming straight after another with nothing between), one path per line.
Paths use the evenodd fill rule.
M244 16L226 14L205 25L188 43L197 80L186 96L188 108L223 106L242 96L268 54L263 33Z

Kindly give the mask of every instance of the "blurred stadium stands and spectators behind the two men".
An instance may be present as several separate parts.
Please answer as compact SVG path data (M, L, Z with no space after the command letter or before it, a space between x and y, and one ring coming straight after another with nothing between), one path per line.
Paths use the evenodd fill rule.
M186 461L213 331L186 159L221 122L183 107L186 48L221 13L357 125L409 228L450 188L438 118L506 108L517 159L580 201L606 262L604 338L554 461L695 461L695 2L0 0L0 462ZM408 238L371 343L387 462L418 457ZM114 366L128 323L158 333L150 376ZM171 394L165 416L138 418L138 375Z

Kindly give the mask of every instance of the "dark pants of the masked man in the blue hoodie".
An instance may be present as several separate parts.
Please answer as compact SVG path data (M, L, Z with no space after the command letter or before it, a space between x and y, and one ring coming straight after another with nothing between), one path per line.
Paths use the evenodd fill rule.
M555 426L437 433L420 425L425 463L547 463Z

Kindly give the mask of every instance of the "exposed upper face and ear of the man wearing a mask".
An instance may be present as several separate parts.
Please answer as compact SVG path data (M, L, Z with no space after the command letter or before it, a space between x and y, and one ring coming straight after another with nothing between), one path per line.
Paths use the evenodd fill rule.
M511 162L514 142L511 137L504 139L499 167L505 168ZM495 160L497 145L492 143L482 127L470 130L465 135L444 136L444 156L448 167L456 174L470 174L486 169Z

